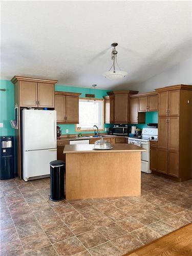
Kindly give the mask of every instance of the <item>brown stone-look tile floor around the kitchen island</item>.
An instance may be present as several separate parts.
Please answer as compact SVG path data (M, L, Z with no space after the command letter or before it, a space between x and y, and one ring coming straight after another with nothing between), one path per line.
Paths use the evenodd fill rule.
M49 178L1 181L0 254L123 255L192 222L192 180L142 173L140 197L49 200Z

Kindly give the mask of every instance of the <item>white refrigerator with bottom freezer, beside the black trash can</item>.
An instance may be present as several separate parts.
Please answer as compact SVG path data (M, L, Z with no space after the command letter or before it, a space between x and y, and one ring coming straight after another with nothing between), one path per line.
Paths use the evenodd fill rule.
M56 111L22 111L23 179L50 174L49 163L57 159Z

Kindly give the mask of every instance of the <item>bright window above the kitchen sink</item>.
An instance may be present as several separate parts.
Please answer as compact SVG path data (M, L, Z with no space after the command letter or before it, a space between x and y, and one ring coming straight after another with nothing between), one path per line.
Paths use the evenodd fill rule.
M103 100L79 99L79 123L76 131L93 131L97 125L103 130Z

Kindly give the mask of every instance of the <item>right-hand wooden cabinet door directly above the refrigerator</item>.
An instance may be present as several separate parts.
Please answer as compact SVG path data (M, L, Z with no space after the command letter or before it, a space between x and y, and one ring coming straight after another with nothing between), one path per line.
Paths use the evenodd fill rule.
M38 107L54 108L54 84L38 82Z

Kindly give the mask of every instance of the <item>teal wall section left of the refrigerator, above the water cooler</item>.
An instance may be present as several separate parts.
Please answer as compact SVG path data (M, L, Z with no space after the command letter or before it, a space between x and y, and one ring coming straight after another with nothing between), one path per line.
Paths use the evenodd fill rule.
M0 122L4 127L0 127L1 136L15 135L15 130L11 127L10 120L14 119L14 86L11 81L1 80L0 88Z

